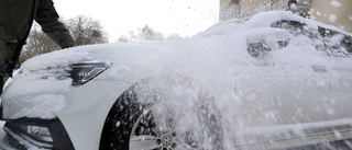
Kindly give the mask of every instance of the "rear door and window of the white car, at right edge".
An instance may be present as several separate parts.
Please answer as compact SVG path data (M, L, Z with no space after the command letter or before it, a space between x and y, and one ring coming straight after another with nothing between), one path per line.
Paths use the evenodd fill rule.
M319 33L331 67L331 107L328 118L352 118L352 37L324 27L319 27Z

